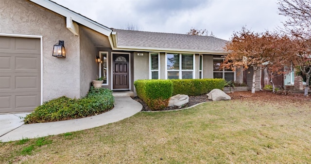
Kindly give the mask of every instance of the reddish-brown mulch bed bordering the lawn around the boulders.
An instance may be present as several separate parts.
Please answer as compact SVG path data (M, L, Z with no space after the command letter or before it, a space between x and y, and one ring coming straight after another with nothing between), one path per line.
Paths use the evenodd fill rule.
M231 97L231 100L251 100L251 101L275 101L275 102L300 102L303 103L305 101L311 101L311 96L304 96L302 93L292 93L292 94L276 94L271 91L256 91L255 94L251 93L251 91L236 91L233 93L228 93ZM132 97L132 99L136 100L140 104L142 104L141 111L152 111L147 104L142 101L139 97ZM195 104L208 102L211 100L207 99L207 95L201 96L189 96L189 103L183 106L182 108L187 108ZM181 108L181 109L182 109ZM178 108L166 107L163 110L174 110Z

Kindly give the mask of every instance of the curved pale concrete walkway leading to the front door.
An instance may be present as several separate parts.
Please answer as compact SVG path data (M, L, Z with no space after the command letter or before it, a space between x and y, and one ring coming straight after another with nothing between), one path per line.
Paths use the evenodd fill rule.
M35 124L22 124L18 118L20 114L3 114L0 115L0 141L8 142L94 128L126 119L142 109L142 105L130 97L115 97L114 105L112 110L96 116ZM10 122L10 127L5 127L5 122Z

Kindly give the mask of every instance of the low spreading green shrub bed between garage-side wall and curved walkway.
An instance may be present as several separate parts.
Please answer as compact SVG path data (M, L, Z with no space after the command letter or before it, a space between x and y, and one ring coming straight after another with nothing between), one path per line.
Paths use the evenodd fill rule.
M27 115L24 122L30 124L84 118L112 109L113 103L111 90L95 89L92 86L85 98L70 99L62 96L43 103Z

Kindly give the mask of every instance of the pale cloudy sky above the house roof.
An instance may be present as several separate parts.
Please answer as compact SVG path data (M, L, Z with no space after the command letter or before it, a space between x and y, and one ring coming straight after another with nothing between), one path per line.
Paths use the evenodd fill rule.
M256 32L276 30L286 18L277 0L52 0L108 28L182 33L207 29L229 40L243 26Z

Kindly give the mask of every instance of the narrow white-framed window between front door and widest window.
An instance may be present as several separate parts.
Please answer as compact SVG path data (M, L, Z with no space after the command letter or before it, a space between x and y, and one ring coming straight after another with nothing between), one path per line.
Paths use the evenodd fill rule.
M149 53L149 79L160 79L160 54Z

